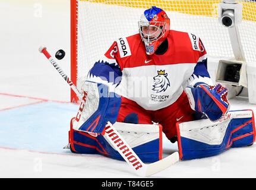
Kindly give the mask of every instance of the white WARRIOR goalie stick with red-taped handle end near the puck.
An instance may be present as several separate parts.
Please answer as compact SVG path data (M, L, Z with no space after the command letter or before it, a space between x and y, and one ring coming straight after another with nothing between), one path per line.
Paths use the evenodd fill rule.
M77 87L72 83L72 81L69 80L68 76L64 71L62 71L61 67L56 63L52 56L50 56L46 50L46 47L41 46L39 48L39 52L43 53L46 58L48 58L54 68L59 72L59 74L61 74L62 78L64 78L75 94L77 94L80 100L82 100L83 95L78 91ZM172 166L172 164L179 161L179 153L175 152L157 162L150 164L143 163L110 122L106 124L104 137L107 138L113 147L116 148L118 153L121 154L123 159L134 169L138 176L153 175L154 173L167 169L167 167Z

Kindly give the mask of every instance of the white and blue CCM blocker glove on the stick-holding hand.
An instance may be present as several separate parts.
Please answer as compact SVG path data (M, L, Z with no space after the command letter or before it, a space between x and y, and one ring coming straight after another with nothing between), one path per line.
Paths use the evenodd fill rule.
M75 118L73 128L77 131L102 133L109 121L118 117L121 97L109 92L108 85L86 81L84 97Z

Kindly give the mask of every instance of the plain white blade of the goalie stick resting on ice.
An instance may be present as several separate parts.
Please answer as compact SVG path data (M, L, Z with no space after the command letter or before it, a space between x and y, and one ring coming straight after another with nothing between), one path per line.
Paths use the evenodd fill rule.
M175 164L178 161L179 161L179 153L175 152L170 154L170 156L165 157L162 160L159 160L151 164L146 164L147 169L144 176L151 176L154 173L161 172L162 170L167 169L168 167L172 166L172 164Z

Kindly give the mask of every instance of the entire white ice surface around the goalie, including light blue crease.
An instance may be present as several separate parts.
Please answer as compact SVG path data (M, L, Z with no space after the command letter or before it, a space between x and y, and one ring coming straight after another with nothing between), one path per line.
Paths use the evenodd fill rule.
M65 103L69 87L38 48L64 49L58 64L69 75L68 20L69 0L0 1L0 178L138 178L125 162L62 148L78 105ZM230 103L256 113L248 99ZM163 137L164 156L178 150ZM232 148L180 161L152 178L255 178L255 159L255 145Z

